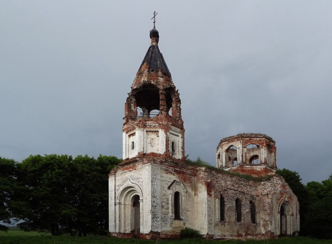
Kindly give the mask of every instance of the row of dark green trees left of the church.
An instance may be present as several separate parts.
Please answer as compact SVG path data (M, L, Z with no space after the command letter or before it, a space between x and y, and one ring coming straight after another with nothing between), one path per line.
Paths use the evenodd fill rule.
M108 233L108 174L122 160L35 155L18 163L0 157L0 230L13 220L23 230Z

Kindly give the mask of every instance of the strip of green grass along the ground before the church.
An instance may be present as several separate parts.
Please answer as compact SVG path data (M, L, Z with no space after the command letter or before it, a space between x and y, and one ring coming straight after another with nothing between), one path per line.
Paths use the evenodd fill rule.
M8 232L0 231L0 244L154 244L156 241L140 239L120 239L109 236L54 236L49 233L24 232L11 229ZM159 244L189 244L189 243L206 243L206 244L327 244L332 240L318 240L304 237L283 237L279 239L267 240L222 240L211 241L206 239L177 239L177 240L160 240Z

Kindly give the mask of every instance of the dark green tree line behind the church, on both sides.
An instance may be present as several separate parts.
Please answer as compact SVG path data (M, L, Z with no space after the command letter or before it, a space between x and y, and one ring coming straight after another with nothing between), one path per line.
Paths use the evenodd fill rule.
M26 231L107 234L108 174L121 161L102 155L31 155L22 162L0 157L0 230L20 220L18 227ZM299 200L300 235L331 239L332 175L304 185L295 171L277 174Z

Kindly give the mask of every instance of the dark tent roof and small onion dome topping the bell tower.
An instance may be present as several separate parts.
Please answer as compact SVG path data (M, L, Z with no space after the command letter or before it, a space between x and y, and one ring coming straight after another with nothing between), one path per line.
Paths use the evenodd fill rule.
M159 32L156 29L152 29L150 31L150 38L151 45L147 50L141 66L138 70L140 70L141 67L146 63L149 70L153 69L154 71L157 71L161 69L165 75L171 77L171 72L168 70L164 57L158 47Z

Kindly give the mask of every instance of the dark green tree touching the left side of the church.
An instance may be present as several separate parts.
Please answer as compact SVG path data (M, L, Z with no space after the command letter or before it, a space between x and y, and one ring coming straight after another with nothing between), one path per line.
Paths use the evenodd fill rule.
M79 236L87 233L107 234L108 232L108 174L110 169L121 162L114 156L102 156L95 160L87 155L77 156L78 166L75 195L77 213L75 231Z

